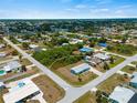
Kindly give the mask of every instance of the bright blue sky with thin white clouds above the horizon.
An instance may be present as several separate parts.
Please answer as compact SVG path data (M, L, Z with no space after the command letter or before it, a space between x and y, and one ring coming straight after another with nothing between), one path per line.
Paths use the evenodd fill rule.
M0 0L0 19L137 18L137 0Z

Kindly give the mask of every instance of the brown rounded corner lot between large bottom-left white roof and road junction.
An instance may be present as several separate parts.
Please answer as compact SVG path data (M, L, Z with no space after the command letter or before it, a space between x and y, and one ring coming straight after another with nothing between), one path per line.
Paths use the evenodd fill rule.
M32 81L41 89L48 103L56 103L65 95L65 91L46 75L40 75Z

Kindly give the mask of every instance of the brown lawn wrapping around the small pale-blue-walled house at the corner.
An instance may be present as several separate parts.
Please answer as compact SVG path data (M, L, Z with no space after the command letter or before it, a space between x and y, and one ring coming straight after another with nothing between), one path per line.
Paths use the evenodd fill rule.
M82 64L83 62L77 62L74 64L70 64L64 68L59 68L56 70L53 70L53 72L55 72L57 75L60 75L63 80L65 80L67 83L74 85L74 86L82 86L86 83L88 83L89 81L94 80L95 78L97 78L96 74L92 73L92 72L85 72L83 74L81 74L81 79L82 81L78 81L78 75L74 75L71 73L71 68L76 66L78 64Z

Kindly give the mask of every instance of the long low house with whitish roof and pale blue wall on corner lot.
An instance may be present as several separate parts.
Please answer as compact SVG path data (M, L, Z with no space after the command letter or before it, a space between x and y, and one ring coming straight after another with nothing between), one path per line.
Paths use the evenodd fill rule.
M88 71L89 69L91 69L91 66L87 63L83 63L81 65L72 68L71 73L81 74L81 73Z

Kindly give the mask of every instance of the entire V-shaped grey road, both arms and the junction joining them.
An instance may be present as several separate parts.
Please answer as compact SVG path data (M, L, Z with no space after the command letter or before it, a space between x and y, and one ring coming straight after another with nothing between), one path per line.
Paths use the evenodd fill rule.
M82 96L87 91L92 90L93 87L97 86L99 83L115 74L117 71L123 69L125 65L129 64L133 61L137 60L137 55L126 58L126 60L118 64L117 66L110 69L103 75L96 78L95 80L91 81L89 83L85 84L82 87L73 87L66 82L64 82L61 78L59 78L56 74L52 73L48 68L39 63L36 60L34 60L31 55L27 54L23 50L14 45L12 42L10 42L8 39L4 38L4 41L7 41L12 48L17 49L20 53L22 53L23 56L28 58L33 64L38 65L39 69L41 69L46 75L49 75L53 81L55 81L60 86L62 86L65 90L65 97L59 101L59 103L72 103L80 96Z

